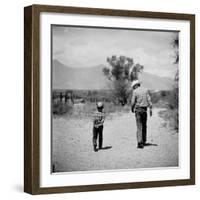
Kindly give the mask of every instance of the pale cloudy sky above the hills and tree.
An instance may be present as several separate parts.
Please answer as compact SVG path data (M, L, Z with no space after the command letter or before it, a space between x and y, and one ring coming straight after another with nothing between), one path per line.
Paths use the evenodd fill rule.
M133 58L144 71L174 78L177 32L52 26L52 56L68 67L109 66L112 55Z

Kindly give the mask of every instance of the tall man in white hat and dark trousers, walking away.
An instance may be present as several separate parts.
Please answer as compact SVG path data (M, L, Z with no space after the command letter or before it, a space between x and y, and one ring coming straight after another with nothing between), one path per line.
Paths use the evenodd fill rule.
M152 116L152 103L148 90L141 87L138 80L133 81L132 88L131 110L136 117L137 147L143 148L147 139L147 108L149 107Z

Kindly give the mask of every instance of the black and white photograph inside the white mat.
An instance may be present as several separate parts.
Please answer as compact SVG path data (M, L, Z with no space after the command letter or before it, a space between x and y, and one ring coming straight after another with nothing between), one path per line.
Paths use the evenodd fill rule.
M51 25L51 173L179 167L179 32Z

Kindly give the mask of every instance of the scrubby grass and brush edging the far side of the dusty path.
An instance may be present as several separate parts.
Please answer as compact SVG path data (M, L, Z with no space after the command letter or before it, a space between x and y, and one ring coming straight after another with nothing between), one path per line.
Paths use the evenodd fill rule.
M165 121L163 126L169 126L174 130L178 130L178 91L151 92L150 95L153 108L163 108L159 112L160 117ZM106 113L107 119L128 113L130 109L130 102L124 106L113 102L104 102L104 112ZM74 104L54 102L52 105L53 117L89 119L92 118L96 110L96 103L88 100Z

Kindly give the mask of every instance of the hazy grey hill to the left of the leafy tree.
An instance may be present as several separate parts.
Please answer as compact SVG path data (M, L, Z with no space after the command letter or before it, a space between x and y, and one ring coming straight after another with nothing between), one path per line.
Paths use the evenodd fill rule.
M108 89L109 81L103 74L104 65L95 67L68 67L53 61L53 89Z

